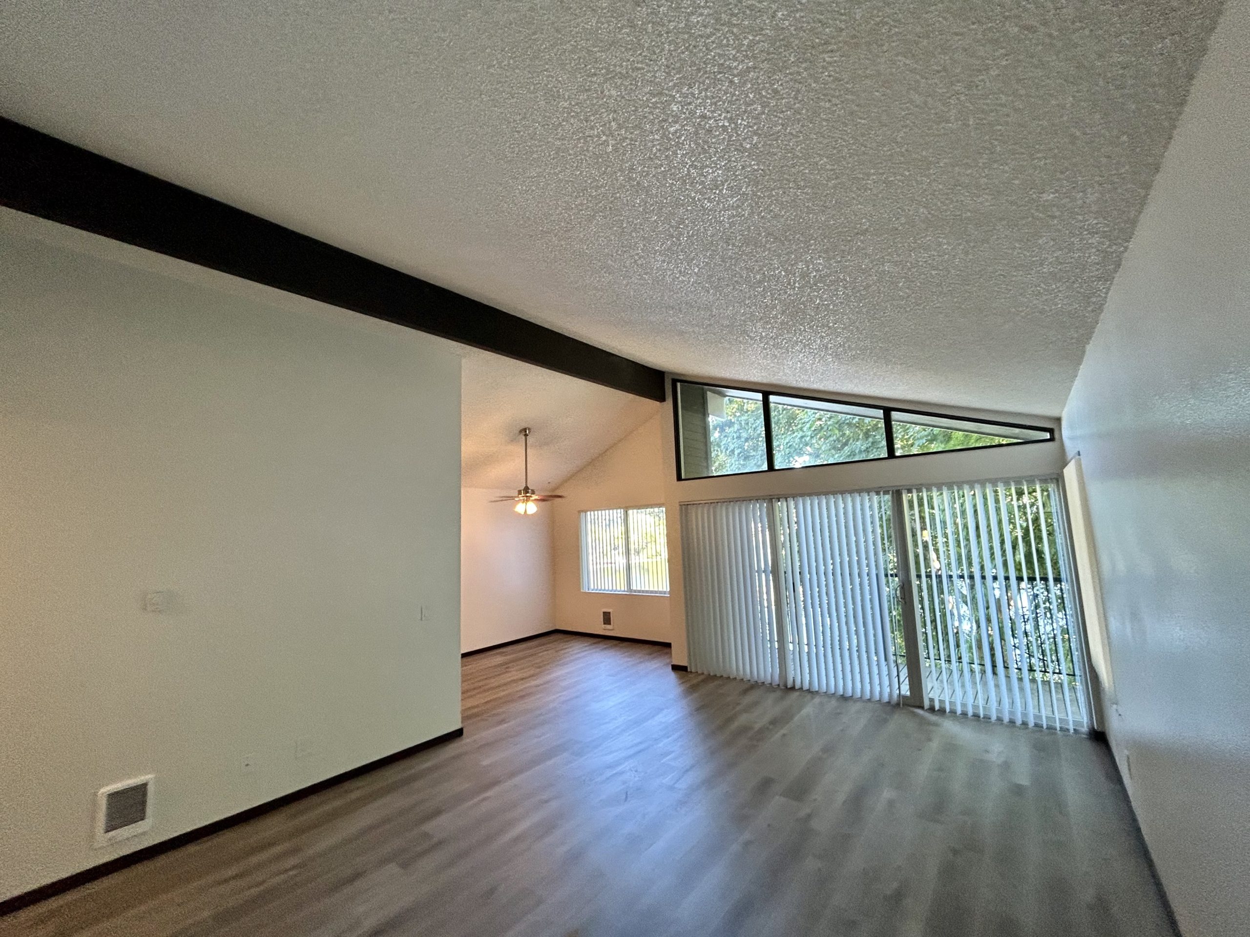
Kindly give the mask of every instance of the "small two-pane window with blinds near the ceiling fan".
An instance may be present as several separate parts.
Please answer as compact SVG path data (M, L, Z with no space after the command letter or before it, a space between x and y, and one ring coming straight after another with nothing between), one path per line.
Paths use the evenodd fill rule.
M581 591L668 595L662 507L581 512Z

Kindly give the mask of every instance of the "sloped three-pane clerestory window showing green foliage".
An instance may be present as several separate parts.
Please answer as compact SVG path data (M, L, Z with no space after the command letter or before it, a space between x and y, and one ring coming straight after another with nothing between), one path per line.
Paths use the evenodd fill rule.
M896 459L1024 442L1054 430L676 381L678 477Z

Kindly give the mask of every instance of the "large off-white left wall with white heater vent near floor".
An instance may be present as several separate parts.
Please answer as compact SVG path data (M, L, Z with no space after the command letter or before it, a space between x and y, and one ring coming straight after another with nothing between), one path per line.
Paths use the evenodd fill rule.
M459 360L4 222L0 898L459 727Z

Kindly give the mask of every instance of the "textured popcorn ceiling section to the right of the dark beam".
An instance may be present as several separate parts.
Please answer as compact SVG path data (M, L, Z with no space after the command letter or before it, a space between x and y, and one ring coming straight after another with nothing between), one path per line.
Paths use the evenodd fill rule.
M0 7L0 111L649 364L1058 415L1220 4Z

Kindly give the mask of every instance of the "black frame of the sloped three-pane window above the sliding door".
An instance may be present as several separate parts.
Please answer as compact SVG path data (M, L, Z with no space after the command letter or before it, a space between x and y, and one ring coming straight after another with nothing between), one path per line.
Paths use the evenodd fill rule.
M728 472L725 475L685 475L684 457L681 452L681 409L678 401L678 387L680 385L690 387L705 387L711 390L741 391L745 394L760 394L764 404L764 455L768 461L766 468L752 468L746 472ZM866 404L864 401L839 400L838 397L818 397L811 394L795 394L792 391L768 391L760 387L740 387L731 384L709 384L706 381L688 381L674 377L671 392L669 394L672 405L672 442L675 446L674 462L678 470L678 481L700 481L702 478L736 478L742 475L764 475L765 472L794 472L802 468L824 468L832 465L858 465L861 462L884 462L890 459L920 459L921 456L939 456L946 452L975 452L982 449L1006 449L1009 446L1035 446L1039 442L1054 442L1055 430L1051 426L1034 426L1031 424L1015 424L1006 420L985 420L981 417L961 416L959 414L939 414L932 410L912 410L911 407L885 406ZM885 430L885 455L870 459L848 459L842 462L820 462L819 465L776 465L772 451L772 397L788 397L790 400L810 400L816 404L836 404L839 406L860 407L865 410L879 410ZM931 452L896 452L894 447L894 415L906 416L931 416L939 420L960 420L964 422L981 424L984 426L1002 426L1009 430L1029 430L1031 432L1046 434L1040 440L1016 440L1015 442L995 442L989 446L961 446L959 449L936 449ZM904 420L904 422L906 422Z

